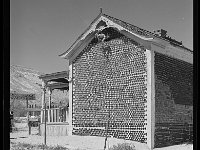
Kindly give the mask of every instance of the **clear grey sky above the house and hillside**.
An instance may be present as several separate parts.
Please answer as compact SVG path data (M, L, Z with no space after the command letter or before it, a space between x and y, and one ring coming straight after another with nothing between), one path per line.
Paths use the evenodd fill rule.
M68 70L65 52L103 13L167 35L193 50L193 0L10 0L10 64Z

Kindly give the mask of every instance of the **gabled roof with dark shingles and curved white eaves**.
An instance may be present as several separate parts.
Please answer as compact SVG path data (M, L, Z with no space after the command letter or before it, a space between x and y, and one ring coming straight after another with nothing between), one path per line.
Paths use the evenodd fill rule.
M94 38L95 33L97 32L97 25L100 21L106 22L109 27L117 29L120 33L126 35L127 37L135 40L139 44L143 45L147 49L151 49L151 44L159 45L161 47L168 47L167 51L172 51L172 47L175 49L183 50L184 57L186 55L193 55L193 52L183 45L177 45L172 43L168 39L165 39L161 36L156 35L155 33L149 32L147 30L141 29L137 26L134 26L130 23L124 22L120 19L111 17L109 15L103 14L102 12L92 21L89 27L77 38L77 40L72 44L72 46L65 51L63 54L59 55L62 58L73 60L83 49L86 47L91 40ZM170 49L170 50L169 50ZM180 52L178 50L178 52ZM172 52L173 53L173 52ZM176 54L177 55L177 54ZM190 58L187 58L190 59ZM192 60L189 60L192 63Z

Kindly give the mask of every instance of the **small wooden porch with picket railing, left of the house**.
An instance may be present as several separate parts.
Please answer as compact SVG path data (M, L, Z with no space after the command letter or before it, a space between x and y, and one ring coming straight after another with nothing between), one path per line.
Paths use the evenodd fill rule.
M42 79L42 108L41 122L39 125L40 135L60 136L68 135L69 105L52 105L52 92L54 89L68 90L68 72L56 72L39 76ZM48 102L45 101L46 93L49 94Z

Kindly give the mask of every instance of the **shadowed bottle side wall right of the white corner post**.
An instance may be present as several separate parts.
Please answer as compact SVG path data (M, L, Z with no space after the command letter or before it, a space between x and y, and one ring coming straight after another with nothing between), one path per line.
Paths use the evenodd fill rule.
M192 68L155 53L155 147L192 142Z

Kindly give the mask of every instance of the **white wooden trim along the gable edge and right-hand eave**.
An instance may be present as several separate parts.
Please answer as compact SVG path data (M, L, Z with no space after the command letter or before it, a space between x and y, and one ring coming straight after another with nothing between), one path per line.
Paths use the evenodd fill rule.
M89 44L89 42L94 38L95 27L101 20L105 21L109 27L117 28L120 33L140 43L146 49L151 50L152 44L159 45L159 47L163 48L162 53L167 53L170 56L176 55L175 57L178 57L177 53L180 52L181 56L178 57L179 59L182 59L189 63L193 62L193 52L191 50L188 50L187 48L184 48L182 46L172 45L168 40L165 40L160 37L156 37L153 35L145 37L143 35L134 33L134 31L131 31L127 29L126 27L121 26L118 22L115 22L109 19L108 17L106 17L106 15L102 13L100 13L97 16L97 18L95 18L95 20L84 31L84 33L81 34L81 36L79 36L79 38L75 41L75 43L65 53L61 54L60 56L65 59L68 59L69 63L71 63L78 56L78 54ZM174 53L173 50L176 52Z

